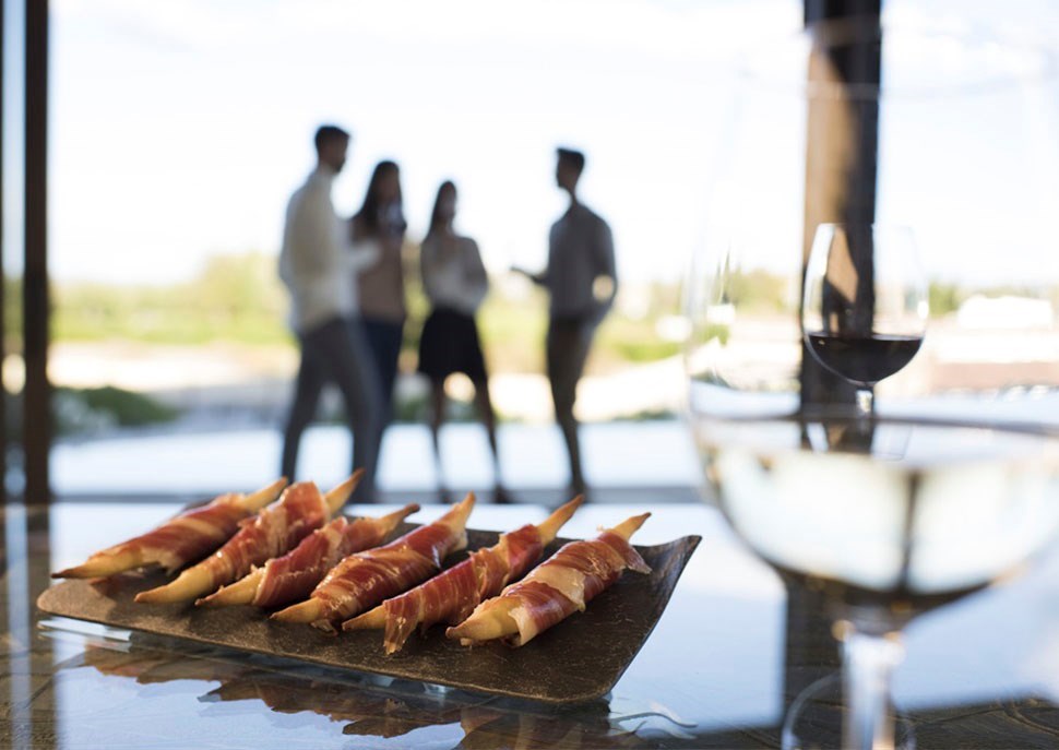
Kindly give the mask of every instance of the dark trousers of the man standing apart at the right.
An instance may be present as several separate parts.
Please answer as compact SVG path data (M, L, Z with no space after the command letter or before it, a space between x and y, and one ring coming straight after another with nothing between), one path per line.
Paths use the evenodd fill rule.
M584 372L595 331L594 319L554 318L548 323L545 347L556 421L567 443L570 485L575 492L584 491L585 480L581 468L581 447L578 442L578 420L573 416L573 405L578 397L578 381Z

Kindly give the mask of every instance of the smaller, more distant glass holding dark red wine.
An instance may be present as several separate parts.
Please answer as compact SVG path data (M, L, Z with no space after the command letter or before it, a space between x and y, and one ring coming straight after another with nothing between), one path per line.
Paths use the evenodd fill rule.
M801 330L812 356L857 388L873 409L876 383L919 352L929 311L927 278L912 230L821 224L806 266Z

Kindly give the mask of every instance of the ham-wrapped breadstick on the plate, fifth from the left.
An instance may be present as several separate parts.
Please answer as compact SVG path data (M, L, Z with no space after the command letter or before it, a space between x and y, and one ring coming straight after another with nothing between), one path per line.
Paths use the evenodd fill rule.
M517 581L537 563L544 548L556 538L581 505L579 496L549 515L538 526L501 535L492 547L479 549L415 588L386 599L374 609L342 624L343 630L384 628L386 653L400 651L412 631L426 631L437 622L463 622L484 599L496 596L511 581Z

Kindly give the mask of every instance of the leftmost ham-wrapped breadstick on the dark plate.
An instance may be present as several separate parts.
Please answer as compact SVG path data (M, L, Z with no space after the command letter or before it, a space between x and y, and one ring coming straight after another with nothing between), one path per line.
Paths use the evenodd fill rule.
M75 568L52 573L51 578L97 579L147 566L162 566L171 573L230 539L239 531L239 523L275 500L286 484L286 478L279 478L250 495L222 495L146 534L96 552Z

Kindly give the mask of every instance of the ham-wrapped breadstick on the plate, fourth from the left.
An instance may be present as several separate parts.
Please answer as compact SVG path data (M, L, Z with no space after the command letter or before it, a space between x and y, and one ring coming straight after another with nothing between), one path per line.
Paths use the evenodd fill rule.
M333 631L332 623L374 607L407 591L441 569L447 555L467 546L467 516L474 495L432 524L420 526L388 544L350 555L324 576L312 595L275 612L284 622L310 622Z

